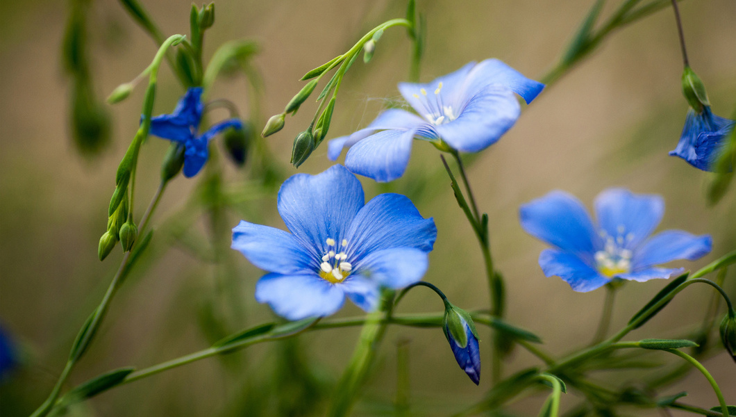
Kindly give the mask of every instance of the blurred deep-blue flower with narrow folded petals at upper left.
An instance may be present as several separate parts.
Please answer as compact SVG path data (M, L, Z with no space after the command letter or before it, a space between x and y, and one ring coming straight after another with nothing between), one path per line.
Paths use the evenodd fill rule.
M187 178L194 177L205 166L209 157L210 139L229 127L243 128L243 122L239 119L227 119L198 135L199 122L202 120L204 108L202 87L191 87L179 99L173 113L151 118L150 133L152 135L183 145L184 176Z

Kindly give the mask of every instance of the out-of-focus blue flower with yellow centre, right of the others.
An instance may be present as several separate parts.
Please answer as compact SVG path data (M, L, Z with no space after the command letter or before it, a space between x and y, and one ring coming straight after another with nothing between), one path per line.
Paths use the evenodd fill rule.
M658 195L606 189L595 198L594 225L584 206L566 192L553 191L520 208L521 226L553 249L542 250L545 276L559 276L573 290L587 292L613 279L670 278L682 268L656 267L675 259L694 261L710 252L710 236L670 230L649 237L665 203Z

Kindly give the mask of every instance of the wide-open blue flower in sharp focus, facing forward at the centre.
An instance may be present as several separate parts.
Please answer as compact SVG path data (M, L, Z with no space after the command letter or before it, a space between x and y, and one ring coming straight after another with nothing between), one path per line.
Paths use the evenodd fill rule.
M346 295L371 311L381 287L406 287L427 270L434 220L403 195L364 204L361 183L341 165L286 180L277 208L291 233L241 221L232 248L269 271L255 299L289 320L333 314Z

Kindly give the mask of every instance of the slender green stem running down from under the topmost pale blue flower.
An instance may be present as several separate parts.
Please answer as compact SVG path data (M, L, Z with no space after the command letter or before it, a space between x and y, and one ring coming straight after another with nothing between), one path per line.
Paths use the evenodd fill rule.
M470 200L470 204L468 204L463 197L462 191L455 179L455 175L453 175L452 169L450 169L450 166L447 165L447 161L445 161L445 155L439 155L439 157L442 159L442 164L445 166L447 175L450 177L450 186L452 186L453 188L455 198L460 208L465 213L467 221L470 222L470 226L473 228L473 231L475 231L475 236L478 238L478 244L481 245L483 261L486 265L486 277L488 279L491 314L497 317L501 317L503 316L503 282L501 281L500 276L495 273L495 270L493 269L493 258L491 256L491 240L488 231L488 215L484 213L481 216L480 211L478 211L478 205L475 203L473 190L470 189L470 182L467 179L465 167L462 163L462 158L460 154L456 150L451 150L450 153L453 155L453 158L455 158L455 161L457 161L460 170L460 178L462 178L462 181L464 183L465 192L467 193L467 197ZM497 337L500 337L500 334L498 334L498 332L494 334L494 339ZM501 376L501 352L498 343L492 344L491 354L491 360L493 364L491 380L495 383L498 382Z

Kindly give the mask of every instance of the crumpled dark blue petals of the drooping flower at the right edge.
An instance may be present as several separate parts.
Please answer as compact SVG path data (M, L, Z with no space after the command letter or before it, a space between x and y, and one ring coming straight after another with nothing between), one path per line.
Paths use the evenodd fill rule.
M690 108L680 141L670 155L679 156L698 169L712 171L734 125L733 120L715 116L709 106L703 106L701 113Z

